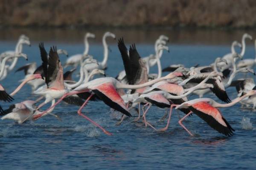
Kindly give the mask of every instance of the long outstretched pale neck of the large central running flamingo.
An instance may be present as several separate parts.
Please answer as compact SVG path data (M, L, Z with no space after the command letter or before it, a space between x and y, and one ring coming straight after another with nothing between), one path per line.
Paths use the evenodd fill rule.
M127 88L127 89L138 89L138 88L144 88L146 86L149 85L153 85L154 83L160 82L162 80L166 80L166 79L173 79L175 78L175 75L172 75L172 77L170 77L169 75L165 76L165 77L161 77L159 79L154 79L151 80L149 82L145 82L143 84L140 85L126 85L126 84L122 84L121 82L116 81L116 88Z

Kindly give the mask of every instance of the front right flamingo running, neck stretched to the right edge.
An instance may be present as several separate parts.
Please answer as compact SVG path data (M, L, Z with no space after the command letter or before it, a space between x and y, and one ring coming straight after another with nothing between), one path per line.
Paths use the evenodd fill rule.
M221 112L217 108L227 108L230 106L235 105L237 102L240 102L242 99L246 98L247 96L256 95L255 90L249 91L244 96L238 97L234 99L232 102L227 104L221 104L215 102L213 99L210 98L200 98L189 100L188 102L184 102L181 105L172 105L171 111L173 107L178 108L189 108L191 111L189 114L184 116L182 119L179 120L179 124L191 135L192 133L182 124L182 121L189 116L192 112L198 115L201 119L203 119L207 124L212 127L213 129L217 130L219 133L222 133L226 136L233 135L233 131L235 131L227 122L227 120L222 116Z

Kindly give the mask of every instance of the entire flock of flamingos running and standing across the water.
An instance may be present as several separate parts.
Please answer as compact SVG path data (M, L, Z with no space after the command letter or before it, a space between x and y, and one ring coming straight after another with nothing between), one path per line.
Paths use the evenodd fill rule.
M122 113L122 119L116 123L120 125L125 117L131 117L131 109L137 111L138 116L134 121L142 121L145 126L149 126L157 131L168 129L173 109L185 114L178 123L193 136L193 134L183 125L183 120L192 113L203 119L210 127L226 136L232 136L234 129L224 118L218 108L227 108L240 102L242 107L256 107L256 85L253 78L234 79L238 73L252 73L256 64L255 59L242 59L245 52L246 39L252 40L249 34L244 34L241 43L234 41L231 45L231 53L218 57L215 62L206 66L195 65L186 68L182 64L172 64L167 68L161 68L160 59L163 51L169 51L166 43L169 38L160 35L154 44L155 54L147 57L140 57L135 44L130 45L129 50L125 45L124 38L119 38L118 48L122 57L124 70L115 78L100 77L94 79L93 76L101 74L105 76L105 69L108 62L108 44L106 39L116 38L115 34L106 32L102 37L104 46L104 57L102 62L93 59L89 54L89 39L95 38L92 33L84 36L84 52L68 57L64 67L62 67L59 55L68 56L67 51L57 49L52 46L48 50L44 48L44 43L39 43L38 55L41 55L42 64L29 63L16 71L24 71L25 77L21 84L8 94L0 85L0 100L12 102L14 95L26 83L31 85L32 94L39 96L35 101L25 100L20 103L10 105L8 109L0 107L1 119L13 119L18 123L31 120L36 121L44 116L52 115L54 108L63 100L69 105L79 106L77 113L87 119L95 126L99 127L105 134L112 133L91 120L82 113L82 109L89 101L102 101L109 107ZM7 77L8 73L15 68L18 58L27 60L27 55L22 53L23 45L30 45L29 37L21 35L15 51L5 51L0 54L0 80ZM235 47L241 48L241 53L237 53ZM256 48L256 41L255 41ZM40 53L39 53L40 51ZM149 74L152 66L157 65L158 73ZM67 66L73 69L63 72ZM80 77L78 81L72 79L73 72L79 68ZM162 72L170 72L162 77ZM226 92L226 88L235 86L238 97L231 100ZM204 94L213 93L224 103L218 103L210 98L203 98ZM188 95L198 95L198 99L188 99ZM37 105L42 99L44 102ZM58 99L57 101L55 101ZM41 111L40 108L51 102L51 106ZM146 120L148 110L152 105L159 108L166 108L161 120L167 119L167 124L161 129L156 129ZM141 114L142 112L142 114Z

